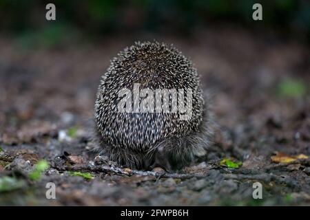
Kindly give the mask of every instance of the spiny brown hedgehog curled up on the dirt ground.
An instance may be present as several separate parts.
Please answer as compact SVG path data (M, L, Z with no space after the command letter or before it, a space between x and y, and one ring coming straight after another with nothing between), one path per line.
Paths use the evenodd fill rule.
M205 99L192 62L174 45L136 42L101 78L94 105L97 148L130 168L172 171L192 164L206 154L213 133Z

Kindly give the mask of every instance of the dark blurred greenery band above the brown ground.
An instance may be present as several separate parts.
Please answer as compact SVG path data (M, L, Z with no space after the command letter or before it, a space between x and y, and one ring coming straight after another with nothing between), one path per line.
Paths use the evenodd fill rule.
M307 39L310 33L307 0L59 0L52 1L56 5L56 22L43 19L47 3L50 1L2 0L1 29L21 37L27 35L27 43L34 44L36 39L43 45L57 44L63 35L72 39L76 34L89 37L115 32L168 32L190 36L197 28L223 22L251 30L271 28L300 39ZM263 5L263 22L252 19L254 3Z

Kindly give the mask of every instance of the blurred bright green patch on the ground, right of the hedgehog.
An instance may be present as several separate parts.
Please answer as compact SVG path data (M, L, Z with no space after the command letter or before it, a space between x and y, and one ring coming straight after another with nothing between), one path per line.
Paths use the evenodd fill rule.
M278 94L281 97L298 98L307 94L307 85L302 80L288 78L278 85Z

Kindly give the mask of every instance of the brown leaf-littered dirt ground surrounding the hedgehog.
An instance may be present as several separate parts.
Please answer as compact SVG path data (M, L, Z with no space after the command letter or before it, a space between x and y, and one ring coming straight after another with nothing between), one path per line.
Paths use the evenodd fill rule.
M25 50L0 37L0 205L310 205L309 45L274 34L226 27L151 37L189 56L213 97L214 143L192 166L130 170L89 151L100 77L119 50L143 39L119 34ZM281 96L285 79L300 80L306 94ZM277 153L304 157L276 163ZM224 158L242 166L221 166ZM31 179L41 159L50 166ZM262 199L252 197L257 181ZM45 197L48 182L56 199Z

